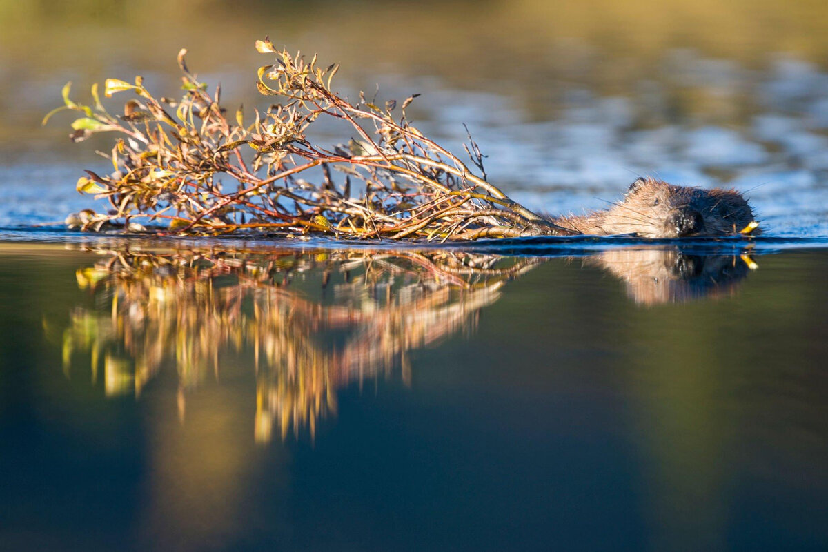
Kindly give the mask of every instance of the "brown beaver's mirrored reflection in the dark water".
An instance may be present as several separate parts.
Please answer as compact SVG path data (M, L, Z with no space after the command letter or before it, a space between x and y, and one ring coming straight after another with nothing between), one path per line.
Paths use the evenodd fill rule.
M678 248L609 250L584 264L622 280L628 297L643 305L733 295L756 267L747 255L694 255Z

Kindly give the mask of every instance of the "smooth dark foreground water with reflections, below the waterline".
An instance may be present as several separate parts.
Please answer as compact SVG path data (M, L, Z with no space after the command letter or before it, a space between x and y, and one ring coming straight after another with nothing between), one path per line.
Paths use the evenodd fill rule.
M824 549L828 255L745 245L4 245L0 548Z

